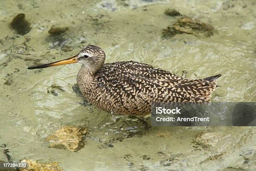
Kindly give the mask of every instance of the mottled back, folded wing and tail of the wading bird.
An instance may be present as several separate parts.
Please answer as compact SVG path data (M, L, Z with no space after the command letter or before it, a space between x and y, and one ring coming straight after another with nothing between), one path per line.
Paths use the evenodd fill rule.
M108 90L122 91L127 98L155 102L208 102L217 87L212 79L185 79L134 61L105 64L97 73L97 79L102 80Z

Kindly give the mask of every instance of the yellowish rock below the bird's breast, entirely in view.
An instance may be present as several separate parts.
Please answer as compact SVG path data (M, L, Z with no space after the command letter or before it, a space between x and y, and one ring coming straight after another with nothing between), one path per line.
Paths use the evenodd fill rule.
M84 146L83 136L86 128L63 127L46 137L53 148L66 148L69 151L79 151Z

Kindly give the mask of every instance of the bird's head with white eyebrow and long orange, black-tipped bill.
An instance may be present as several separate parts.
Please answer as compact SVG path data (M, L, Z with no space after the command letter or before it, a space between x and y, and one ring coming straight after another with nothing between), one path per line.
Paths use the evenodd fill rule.
M49 64L31 66L28 67L28 69L47 68L50 66L73 64L78 62L83 65L82 67L86 67L95 73L104 65L105 56L105 52L102 50L102 48L94 45L88 45L82 48L82 50L77 55L74 55L68 59L52 62Z

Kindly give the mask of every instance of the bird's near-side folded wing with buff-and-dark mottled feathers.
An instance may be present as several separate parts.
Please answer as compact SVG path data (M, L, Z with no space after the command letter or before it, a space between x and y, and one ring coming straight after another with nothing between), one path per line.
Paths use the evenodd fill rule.
M118 76L99 79L108 94L121 98L124 104L151 105L151 102L196 102L205 99L190 91L193 84L177 84L148 77ZM198 85L198 84L197 84ZM186 91L185 91L186 90ZM146 103L146 104L145 104Z

